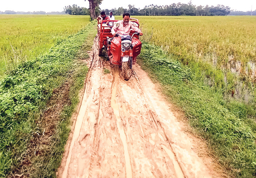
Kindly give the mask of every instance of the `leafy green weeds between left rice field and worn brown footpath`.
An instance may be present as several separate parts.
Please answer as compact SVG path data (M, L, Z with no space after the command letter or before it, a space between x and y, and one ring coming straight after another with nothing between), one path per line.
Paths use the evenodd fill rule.
M44 55L18 64L0 81L0 177L22 162L31 138L39 135L35 120L53 89L77 67L77 51L94 25L91 22L77 34L56 42Z

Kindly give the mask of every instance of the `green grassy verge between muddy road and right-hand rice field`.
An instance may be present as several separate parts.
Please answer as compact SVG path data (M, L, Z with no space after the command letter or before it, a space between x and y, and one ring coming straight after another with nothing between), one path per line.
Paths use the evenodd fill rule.
M160 47L144 43L139 64L161 83L163 93L182 107L191 126L208 140L231 176L256 177L254 109L224 100L222 92L206 85L201 74L170 58Z

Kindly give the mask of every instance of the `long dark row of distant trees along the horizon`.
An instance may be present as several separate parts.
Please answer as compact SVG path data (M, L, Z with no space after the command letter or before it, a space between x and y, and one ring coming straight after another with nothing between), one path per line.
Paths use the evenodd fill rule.
M99 15L101 9L99 6L95 7L95 14ZM122 15L123 13L130 13L132 16L226 16L230 13L230 7L224 5L217 6L195 6L191 3L188 4L178 3L171 5L148 5L143 9L135 8L135 5L128 5L128 8L113 8L103 9L106 13L113 12L114 15ZM77 5L65 7L65 13L70 15L90 15L90 8L80 8Z

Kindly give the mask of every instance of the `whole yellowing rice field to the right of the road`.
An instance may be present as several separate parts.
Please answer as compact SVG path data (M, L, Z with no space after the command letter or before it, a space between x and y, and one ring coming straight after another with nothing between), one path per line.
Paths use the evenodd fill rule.
M138 17L138 16L137 16ZM256 102L256 17L138 17L145 42L189 65L227 98Z

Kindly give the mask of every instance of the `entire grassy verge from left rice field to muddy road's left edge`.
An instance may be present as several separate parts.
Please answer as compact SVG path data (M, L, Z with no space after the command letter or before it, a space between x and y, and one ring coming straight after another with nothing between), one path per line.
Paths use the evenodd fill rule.
M31 165L38 165L38 160L34 157L42 155L48 157L43 159L42 167L47 167L49 160L54 162L54 166L48 167L47 170L51 173L47 175L55 175L52 171L60 162L60 154L64 150L63 145L69 132L69 118L78 103L78 91L82 88L87 72L85 64L79 63L75 57L88 35L94 30L94 26L95 22L91 22L77 34L58 41L48 53L20 64L11 72L12 74L4 76L0 81L0 177L6 177L8 172L8 177L15 176L12 175L12 171L19 172L17 169L24 166L28 168L24 172L32 176L35 169ZM46 109L53 91L64 85L67 80L72 84L68 90L69 102L61 112L61 122L57 122L57 131L54 132L54 136L49 137L50 140L47 140L48 144L54 144L49 144L48 149L41 148L45 152L28 152L28 146L37 144L31 140L40 140L46 134L40 127L40 123L43 122L40 120L41 114ZM42 172L44 174L45 170ZM35 177L45 177L43 174L37 174Z

